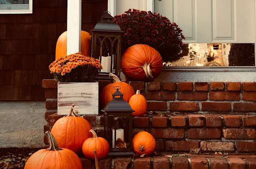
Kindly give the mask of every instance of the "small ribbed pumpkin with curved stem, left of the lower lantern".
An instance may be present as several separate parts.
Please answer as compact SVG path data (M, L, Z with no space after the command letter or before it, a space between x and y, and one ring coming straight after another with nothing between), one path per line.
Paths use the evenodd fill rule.
M105 139L97 137L93 130L90 130L90 132L93 137L84 141L82 145L82 153L84 157L94 159L93 151L96 151L97 158L103 159L109 151L109 145Z

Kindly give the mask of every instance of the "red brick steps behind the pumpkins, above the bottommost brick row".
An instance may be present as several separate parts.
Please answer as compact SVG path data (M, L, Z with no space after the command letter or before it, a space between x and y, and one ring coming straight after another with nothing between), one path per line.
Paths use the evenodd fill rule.
M99 81L99 92L110 81ZM133 118L133 135L147 131L156 151L202 153L256 152L256 83L129 82L147 100L147 115ZM43 80L45 120L49 130L56 115L56 81ZM83 116L102 136L103 116Z

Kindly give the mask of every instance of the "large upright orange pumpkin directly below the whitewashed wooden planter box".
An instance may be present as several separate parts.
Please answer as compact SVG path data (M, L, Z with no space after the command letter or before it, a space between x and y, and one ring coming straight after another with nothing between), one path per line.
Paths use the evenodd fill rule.
M52 135L56 138L60 148L72 150L76 154L82 153L83 142L92 137L91 129L87 120L78 117L71 107L69 115L58 119L51 129Z

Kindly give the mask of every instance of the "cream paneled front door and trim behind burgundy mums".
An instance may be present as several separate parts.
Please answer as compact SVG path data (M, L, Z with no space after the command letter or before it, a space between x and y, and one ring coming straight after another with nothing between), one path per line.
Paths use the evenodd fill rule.
M112 1L112 2L111 2ZM112 13L151 9L176 22L185 43L254 43L255 0L109 0ZM109 3L109 4L110 4Z

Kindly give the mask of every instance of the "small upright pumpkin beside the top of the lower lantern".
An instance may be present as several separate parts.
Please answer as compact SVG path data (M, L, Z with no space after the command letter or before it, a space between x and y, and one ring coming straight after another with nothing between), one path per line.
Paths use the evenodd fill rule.
M130 97L129 105L134 110L132 116L143 116L146 113L146 99L140 94L139 90Z

